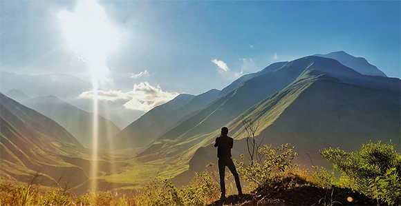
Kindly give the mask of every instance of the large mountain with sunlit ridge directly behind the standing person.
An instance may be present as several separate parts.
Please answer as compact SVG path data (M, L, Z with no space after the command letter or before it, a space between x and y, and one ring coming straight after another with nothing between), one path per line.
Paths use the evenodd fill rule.
M236 139L233 155L248 154L242 117L260 124L257 138L265 136L264 144L295 145L297 162L304 165L324 164L318 152L328 147L352 151L369 140L390 139L400 147L400 87L400 79L363 75L335 59L306 56L245 81L165 132L137 158L189 165L174 178L185 180L216 161L212 143L223 125Z

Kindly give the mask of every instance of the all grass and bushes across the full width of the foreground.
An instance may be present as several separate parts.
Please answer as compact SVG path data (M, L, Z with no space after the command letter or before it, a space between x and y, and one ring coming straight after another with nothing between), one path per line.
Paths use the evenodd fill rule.
M215 204L336 205L346 204L352 197L351 201L360 205L371 205L374 201L401 205L401 154L394 150L391 142L369 142L357 152L330 148L320 153L342 173L340 178L335 177L333 170L324 167L317 167L315 172L301 169L292 161L297 153L289 144L279 147L264 145L257 151L260 158L249 161L241 156L236 163L241 178L250 183L248 188L244 188L250 194L242 198L231 196L228 198L231 202ZM227 180L232 181L232 176L227 176ZM168 179L156 176L150 178L141 192L136 190L131 194L107 191L76 196L67 187L42 187L32 182L26 185L1 184L0 206L207 205L220 196L218 174L208 169L196 173L183 187L176 187ZM234 187L231 185L233 188L230 188L230 184L227 187L229 193L234 194ZM299 202L304 200L306 202Z

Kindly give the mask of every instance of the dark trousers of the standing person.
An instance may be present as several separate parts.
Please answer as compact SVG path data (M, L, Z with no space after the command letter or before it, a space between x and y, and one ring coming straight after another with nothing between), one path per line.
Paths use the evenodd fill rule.
M234 175L236 189L238 189L239 194L242 194L241 183L239 183L238 173L236 172L232 159L228 157L228 158L218 158L218 173L220 174L221 196L225 196L225 182L224 182L225 166L227 166L228 169L230 169L232 175Z

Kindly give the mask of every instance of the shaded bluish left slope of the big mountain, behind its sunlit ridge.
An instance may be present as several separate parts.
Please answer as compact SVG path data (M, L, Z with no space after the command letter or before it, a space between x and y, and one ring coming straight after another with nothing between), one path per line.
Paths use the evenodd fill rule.
M277 70L277 64L270 65L265 70L273 67L272 72L257 75L245 81L236 90L214 101L204 110L160 136L160 139L175 139L181 136L190 138L197 134L207 134L218 130L221 125L229 123L252 105L259 103L275 92L279 92L292 81L295 81L305 68L313 62L314 58L320 57L308 56L306 59L298 59L282 65L279 70Z

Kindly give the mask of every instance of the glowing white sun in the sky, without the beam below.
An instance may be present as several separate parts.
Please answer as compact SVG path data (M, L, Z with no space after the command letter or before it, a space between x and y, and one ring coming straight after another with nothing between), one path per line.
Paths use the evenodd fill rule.
M117 43L117 32L95 0L81 0L75 12L58 15L68 42L88 63L93 81L107 74L106 57Z

